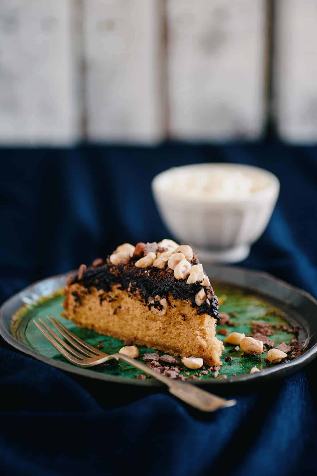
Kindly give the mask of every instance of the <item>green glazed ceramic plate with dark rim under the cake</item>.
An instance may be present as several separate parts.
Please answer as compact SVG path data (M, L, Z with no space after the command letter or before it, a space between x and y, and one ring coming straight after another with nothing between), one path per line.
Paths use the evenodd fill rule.
M298 324L300 326L298 340L305 346L306 351L301 357L289 363L273 365L265 362L266 352L258 357L252 357L244 355L240 350L235 351L235 346L225 344L222 355L223 365L217 378L213 377L213 372L203 375L201 369L188 371L188 368L180 365L180 370L185 377L195 375L198 378L198 380L191 380L192 383L223 385L264 378L273 374L285 375L307 364L316 356L317 302L313 297L263 273L218 266L205 267L205 269L218 297L223 302L220 312L237 314L231 317L236 326L226 326L230 332L248 334L251 331L251 320L291 326ZM145 380L136 379L135 376L141 372L121 361L119 363L110 361L102 366L86 369L76 367L62 357L35 327L32 320L48 314L57 317L72 332L92 346L102 345L103 352L117 353L124 345L121 340L79 328L71 321L60 317L64 299L60 288L66 283L69 274L71 273L35 283L4 303L1 307L0 333L5 340L13 347L68 372L121 383L159 385L152 377ZM10 327L13 315L15 322ZM218 329L220 328L221 326L218 326ZM225 338L220 334L217 334L217 337L222 340ZM290 343L294 337L294 334L277 330L270 339L276 346L282 342ZM139 347L139 358L142 359L144 353L155 350ZM228 356L231 360L226 362L225 359ZM250 374L250 369L254 366L261 372ZM227 379L221 378L224 375Z

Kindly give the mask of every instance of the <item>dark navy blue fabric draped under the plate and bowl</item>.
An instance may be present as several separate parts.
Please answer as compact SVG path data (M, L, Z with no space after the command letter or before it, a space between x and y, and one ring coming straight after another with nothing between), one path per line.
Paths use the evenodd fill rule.
M0 301L31 282L168 236L150 180L171 166L228 161L281 182L264 235L242 263L317 297L317 148L274 140L222 146L1 149ZM157 391L68 375L0 341L4 475L288 476L316 473L316 363L225 395L203 415Z

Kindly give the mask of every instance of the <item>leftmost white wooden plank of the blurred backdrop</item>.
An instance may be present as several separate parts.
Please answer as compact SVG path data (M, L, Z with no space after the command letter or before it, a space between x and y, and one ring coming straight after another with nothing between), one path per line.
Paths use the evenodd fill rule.
M67 145L79 137L77 2L1 0L0 143Z

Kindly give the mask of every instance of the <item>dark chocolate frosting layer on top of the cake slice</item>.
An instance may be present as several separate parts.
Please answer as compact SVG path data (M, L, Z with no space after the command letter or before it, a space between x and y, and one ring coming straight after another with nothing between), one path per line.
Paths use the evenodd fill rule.
M149 297L157 295L167 299L169 295L174 299L189 299L192 306L198 308L198 314L209 314L219 319L218 299L211 286L203 287L210 304L206 299L201 306L197 306L195 296L202 288L201 282L187 284L186 279L176 279L173 270L168 267L165 269L153 266L137 268L135 266L137 259L131 258L125 265L113 265L108 258L102 266L87 268L81 279L78 279L76 275L71 284L80 283L87 289L94 287L106 292L110 291L111 286L118 284L121 290L126 289L131 293L138 291L139 298L144 300L144 304L148 304ZM198 260L194 257L190 263L197 264Z

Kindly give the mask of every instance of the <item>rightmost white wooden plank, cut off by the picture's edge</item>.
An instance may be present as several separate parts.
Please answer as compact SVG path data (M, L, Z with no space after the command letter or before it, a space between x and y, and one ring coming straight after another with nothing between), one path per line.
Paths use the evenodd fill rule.
M281 137L317 141L317 1L277 0L274 110Z

